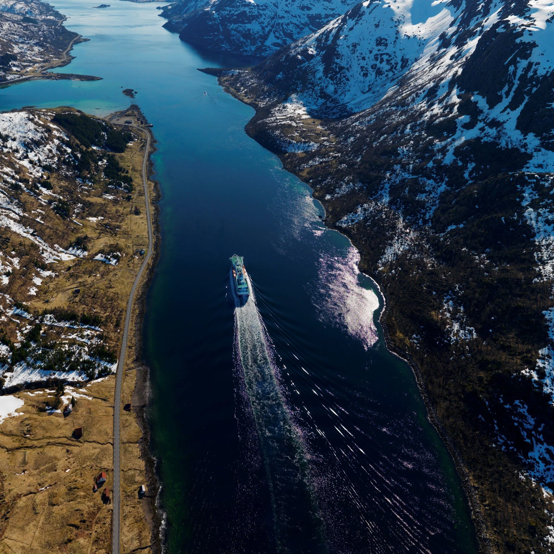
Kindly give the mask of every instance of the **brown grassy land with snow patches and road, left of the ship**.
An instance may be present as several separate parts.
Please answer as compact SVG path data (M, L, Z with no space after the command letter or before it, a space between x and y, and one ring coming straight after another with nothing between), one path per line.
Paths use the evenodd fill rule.
M110 551L119 503L122 551L152 548L137 363L151 136L136 106L111 121L66 107L0 114L4 550Z

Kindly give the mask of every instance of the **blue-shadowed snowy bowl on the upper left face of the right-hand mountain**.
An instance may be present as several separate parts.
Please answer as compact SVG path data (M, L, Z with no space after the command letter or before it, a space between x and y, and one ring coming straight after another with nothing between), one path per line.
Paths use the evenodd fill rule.
M371 105L453 21L443 8L437 16L414 24L411 4L411 0L357 4L291 44L260 71L282 91L297 91L312 111L323 108L336 115Z

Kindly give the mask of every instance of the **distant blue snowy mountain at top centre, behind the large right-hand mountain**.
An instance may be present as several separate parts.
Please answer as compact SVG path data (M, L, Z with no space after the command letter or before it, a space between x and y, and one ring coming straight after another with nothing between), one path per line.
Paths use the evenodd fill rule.
M185 42L212 50L266 56L319 29L352 0L181 0L164 25Z

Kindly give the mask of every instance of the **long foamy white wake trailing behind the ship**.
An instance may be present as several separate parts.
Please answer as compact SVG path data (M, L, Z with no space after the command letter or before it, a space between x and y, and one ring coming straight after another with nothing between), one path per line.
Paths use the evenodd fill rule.
M261 442L279 552L325 552L324 532L299 433L275 379L252 284L250 299L235 308L237 359Z

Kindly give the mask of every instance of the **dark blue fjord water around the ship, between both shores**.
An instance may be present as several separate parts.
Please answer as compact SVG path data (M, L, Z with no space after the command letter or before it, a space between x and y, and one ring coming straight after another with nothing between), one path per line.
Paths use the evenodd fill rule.
M129 105L153 124L161 257L144 322L152 449L173 553L476 552L452 460L409 367L387 352L381 296L326 230L310 190L244 133L253 110L162 29L156 5L55 0L101 81L0 90L0 109ZM204 94L206 92L207 94ZM253 299L229 299L229 256Z

